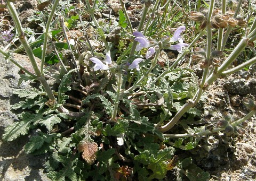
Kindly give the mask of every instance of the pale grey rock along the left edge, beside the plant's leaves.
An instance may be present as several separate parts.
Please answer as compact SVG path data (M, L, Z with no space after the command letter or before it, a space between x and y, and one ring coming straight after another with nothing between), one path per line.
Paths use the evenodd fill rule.
M20 55L17 60L29 66L26 56ZM13 91L30 87L29 82L23 82L18 87L18 71L17 66L11 62L6 63L0 55L0 180L50 180L43 173L44 156L34 157L23 150L29 136L21 136L12 142L2 140L4 128L18 120L17 115L11 110L11 105L19 101L18 97L13 95Z

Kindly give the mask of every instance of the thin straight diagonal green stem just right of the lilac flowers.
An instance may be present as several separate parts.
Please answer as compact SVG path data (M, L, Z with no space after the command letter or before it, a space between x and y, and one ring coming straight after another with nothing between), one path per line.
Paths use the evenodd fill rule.
M179 55L179 57L177 58L177 60L168 68L166 69L161 75L159 75L155 80L154 83L156 83L159 79L161 79L161 77L163 77L164 75L166 75L167 73L170 73L173 68L181 61L181 59L187 54L189 53L189 49L191 49L196 42L199 40L199 38L201 38L203 35L205 34L205 31L201 31L196 38L191 42L191 44L187 47L187 50L183 51L181 55Z

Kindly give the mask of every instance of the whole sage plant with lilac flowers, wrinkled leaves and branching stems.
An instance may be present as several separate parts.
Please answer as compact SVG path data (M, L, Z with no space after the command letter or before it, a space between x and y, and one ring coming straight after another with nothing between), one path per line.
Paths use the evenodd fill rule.
M196 149L214 133L243 134L245 120L255 114L255 100L244 97L245 116L223 112L207 128L196 107L217 79L256 62L248 56L232 66L256 40L255 13L243 10L241 0L232 6L222 1L221 9L214 1L147 0L137 26L122 0L118 22L99 19L109 8L102 1L44 1L37 6L43 28L37 39L28 39L33 32L22 27L13 2L1 1L14 29L1 30L9 45L0 52L22 70L19 84L41 85L14 92L21 100L12 108L23 112L3 140L36 128L25 151L48 153L45 170L52 180L161 180L167 172L177 180L208 180L207 171L175 151ZM229 45L233 31L243 36ZM172 62L170 50L178 55ZM32 68L14 58L19 51ZM180 66L188 60L199 64L201 77Z

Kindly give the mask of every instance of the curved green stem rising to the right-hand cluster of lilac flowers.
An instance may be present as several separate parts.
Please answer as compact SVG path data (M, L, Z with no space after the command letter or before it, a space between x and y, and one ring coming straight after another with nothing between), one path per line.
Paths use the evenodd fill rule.
M140 86L140 83L143 80L145 80L148 77L149 73L153 70L153 68L155 68L161 49L162 49L162 42L160 41L158 43L158 49L156 50L156 55L155 55L153 61L151 62L151 66L149 67L148 71L140 78L140 80L138 80L138 82L136 82L135 84L132 85L132 87L127 89L128 92L131 92L134 89L138 88Z

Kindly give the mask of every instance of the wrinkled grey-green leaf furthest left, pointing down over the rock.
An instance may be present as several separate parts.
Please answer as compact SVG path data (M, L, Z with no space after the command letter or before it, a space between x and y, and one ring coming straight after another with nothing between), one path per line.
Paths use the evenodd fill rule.
M20 135L25 135L28 133L31 123L42 119L42 115L30 114L28 112L21 113L20 121L15 122L7 126L4 130L3 140L13 141L17 139Z

